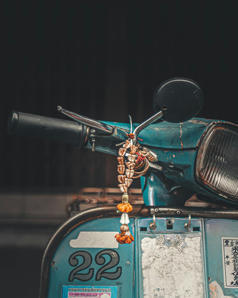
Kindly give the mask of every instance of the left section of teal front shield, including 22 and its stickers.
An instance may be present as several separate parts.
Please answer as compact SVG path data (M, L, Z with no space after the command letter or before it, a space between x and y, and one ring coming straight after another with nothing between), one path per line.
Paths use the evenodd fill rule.
M93 219L62 239L48 272L48 298L133 297L134 244L115 240L118 223L118 218ZM134 218L129 228L134 234Z

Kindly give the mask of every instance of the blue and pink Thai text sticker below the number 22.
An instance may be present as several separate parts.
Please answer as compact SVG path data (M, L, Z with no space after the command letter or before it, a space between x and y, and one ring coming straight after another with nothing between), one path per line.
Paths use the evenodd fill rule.
M117 298L117 286L63 285L62 298Z

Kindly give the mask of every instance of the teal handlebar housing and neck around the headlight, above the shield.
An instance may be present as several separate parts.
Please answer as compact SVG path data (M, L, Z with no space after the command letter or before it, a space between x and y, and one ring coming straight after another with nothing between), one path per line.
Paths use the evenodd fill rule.
M128 138L126 134L130 132L130 125L117 122L105 123L113 125L117 129L112 135L98 137L95 150L118 155L119 147L116 145ZM145 204L151 205L153 202L153 205L173 206L175 203L178 204L180 200L181 204L184 203L180 195L175 195L172 198L173 192L171 191L178 186L184 187L184 191L185 189L191 190L192 194L187 192L190 197L193 194L201 193L219 198L223 203L227 202L226 198L219 196L217 192L206 188L206 186L200 185L195 178L195 161L201 139L206 131L216 124L238 127L226 121L193 118L184 123L159 122L151 124L140 132L138 135L140 145L153 151L158 158L158 162L155 164L162 167L162 170L158 170L157 173L152 172L149 176L141 177ZM133 124L133 130L137 125ZM91 135L91 137L97 136ZM90 142L87 142L85 147L92 148ZM170 189L163 185L164 182L161 180L160 174L174 183Z

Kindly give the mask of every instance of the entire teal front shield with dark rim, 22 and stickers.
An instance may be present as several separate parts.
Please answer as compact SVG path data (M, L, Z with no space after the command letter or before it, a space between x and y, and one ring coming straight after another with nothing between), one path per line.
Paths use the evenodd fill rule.
M133 208L131 244L115 241L120 217L114 206L83 211L63 224L43 257L39 298L238 297L238 211L207 209L210 218L203 219L202 208ZM160 216L153 219L151 210ZM226 287L223 270L231 265L234 279Z

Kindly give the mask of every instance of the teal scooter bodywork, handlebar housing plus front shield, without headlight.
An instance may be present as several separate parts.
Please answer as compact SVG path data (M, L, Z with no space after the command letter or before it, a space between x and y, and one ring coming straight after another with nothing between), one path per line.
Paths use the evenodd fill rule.
M105 123L129 133L128 124ZM115 241L120 219L116 206L79 212L48 244L40 298L238 297L238 212L183 207L194 193L211 196L196 180L195 160L201 139L213 125L233 126L194 118L145 128L140 145L157 155L161 170L152 169L141 178L145 205L133 206L129 223L134 243ZM117 143L125 139L88 138L95 137L95 150L114 155ZM85 147L92 145L88 141Z

